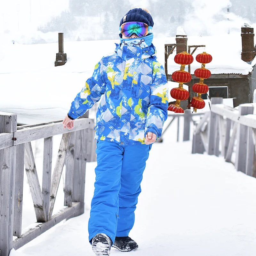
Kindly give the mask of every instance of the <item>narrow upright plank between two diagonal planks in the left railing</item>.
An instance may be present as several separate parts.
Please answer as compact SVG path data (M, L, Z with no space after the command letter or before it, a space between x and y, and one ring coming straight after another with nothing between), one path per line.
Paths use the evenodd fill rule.
M44 138L42 196L46 218L49 220L49 205L52 177L52 137Z

